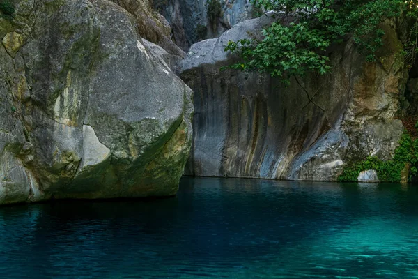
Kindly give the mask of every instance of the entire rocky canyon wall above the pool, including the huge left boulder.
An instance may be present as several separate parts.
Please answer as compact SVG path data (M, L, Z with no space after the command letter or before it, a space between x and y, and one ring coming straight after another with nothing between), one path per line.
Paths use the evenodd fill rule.
M221 3L225 32L187 54L196 24L208 26L206 1L167 0L178 9L168 20L149 0L0 10L0 204L174 195L185 165L196 176L334 181L350 163L394 156L418 77L408 80L394 24L378 63L347 38L330 50L331 73L284 86L223 69L238 61L229 40L259 36L274 14L245 20L247 1ZM176 16L192 22L177 30Z

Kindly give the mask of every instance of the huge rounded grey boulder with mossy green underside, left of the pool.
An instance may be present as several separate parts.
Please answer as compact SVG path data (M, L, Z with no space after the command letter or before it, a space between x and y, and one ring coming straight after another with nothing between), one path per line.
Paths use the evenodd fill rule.
M17 1L0 27L0 204L176 193L192 91L126 10Z

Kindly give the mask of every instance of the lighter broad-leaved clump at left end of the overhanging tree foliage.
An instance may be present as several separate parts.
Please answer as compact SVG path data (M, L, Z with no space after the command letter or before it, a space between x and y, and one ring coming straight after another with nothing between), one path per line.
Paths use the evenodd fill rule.
M239 50L242 63L231 66L241 70L258 69L272 76L289 77L303 75L307 70L321 74L330 70L328 57L318 54L325 51L330 40L318 30L311 30L306 24L290 24L288 27L274 22L263 30L264 40L254 46L254 40L244 39L239 43L229 41L226 50ZM304 47L301 47L304 45ZM287 80L287 79L286 79Z

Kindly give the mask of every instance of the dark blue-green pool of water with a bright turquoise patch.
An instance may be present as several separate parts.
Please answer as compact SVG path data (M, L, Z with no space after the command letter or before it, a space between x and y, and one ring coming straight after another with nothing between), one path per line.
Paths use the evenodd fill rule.
M185 178L0 207L0 278L418 278L418 186Z

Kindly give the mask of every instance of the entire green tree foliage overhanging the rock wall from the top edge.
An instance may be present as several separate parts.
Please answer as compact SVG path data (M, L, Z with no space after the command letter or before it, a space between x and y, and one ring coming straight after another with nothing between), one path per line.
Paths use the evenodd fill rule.
M330 71L327 50L352 34L367 61L376 61L385 32L385 19L405 15L417 22L417 0L251 0L254 6L282 13L277 22L263 30L263 39L229 42L225 51L239 54L242 61L232 66L259 70L288 79L308 71ZM287 22L286 22L286 20ZM290 23L289 20L293 19ZM418 24L411 30L404 55L415 55ZM406 50L408 48L408 50Z

